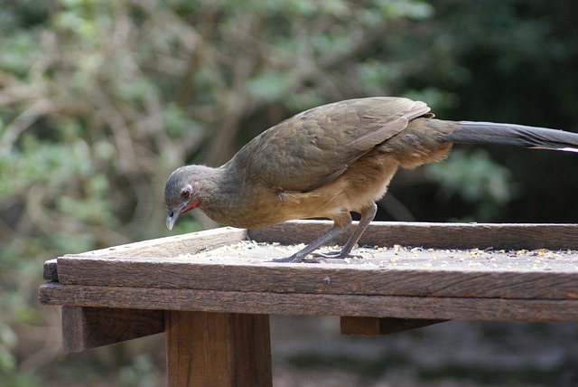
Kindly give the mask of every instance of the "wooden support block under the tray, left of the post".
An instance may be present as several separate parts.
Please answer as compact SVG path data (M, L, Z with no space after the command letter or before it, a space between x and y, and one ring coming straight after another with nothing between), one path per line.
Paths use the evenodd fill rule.
M163 332L162 310L62 307L62 345L80 352Z

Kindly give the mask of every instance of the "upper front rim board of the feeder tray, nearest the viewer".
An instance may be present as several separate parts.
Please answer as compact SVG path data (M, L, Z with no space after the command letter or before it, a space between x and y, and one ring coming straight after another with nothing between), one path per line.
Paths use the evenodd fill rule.
M191 288L339 295L565 299L578 293L578 269L383 268L378 265L278 264L191 259L63 257L67 285Z

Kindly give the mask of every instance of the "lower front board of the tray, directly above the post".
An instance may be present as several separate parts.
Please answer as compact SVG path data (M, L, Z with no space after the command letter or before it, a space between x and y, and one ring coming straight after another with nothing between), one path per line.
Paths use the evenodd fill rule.
M352 296L218 292L163 288L107 288L43 284L44 305L133 307L269 315L369 316L487 321L578 322L573 299Z

